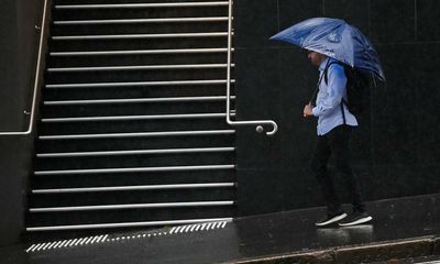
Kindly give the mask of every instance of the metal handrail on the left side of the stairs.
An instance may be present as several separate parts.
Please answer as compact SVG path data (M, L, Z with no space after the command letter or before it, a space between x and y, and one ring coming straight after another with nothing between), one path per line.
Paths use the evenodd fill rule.
M43 7L43 19L42 19L42 26L40 32L40 47L38 47L38 56L36 62L36 70L35 70L35 81L34 81L34 91L32 98L32 109L31 109L31 118L29 120L29 127L26 131L7 131L0 132L1 135L29 135L32 134L34 119L35 119L35 108L36 108L36 98L37 98L37 89L40 87L40 72L41 72L41 61L42 61L42 53L43 53L43 41L44 34L46 31L46 12L47 12L47 0L44 0ZM26 111L25 111L26 112Z

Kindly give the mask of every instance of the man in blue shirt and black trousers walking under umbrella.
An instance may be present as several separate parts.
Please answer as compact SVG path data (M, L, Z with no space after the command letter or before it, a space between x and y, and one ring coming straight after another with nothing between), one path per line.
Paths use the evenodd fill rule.
M365 211L359 183L350 164L350 133L352 127L358 127L358 121L344 103L348 81L344 68L338 61L317 52L309 52L308 58L319 67L320 77L316 107L311 102L305 106L304 117L318 118L318 141L311 168L327 202L327 216L316 222L316 226L339 222L339 226L346 227L369 222L373 218ZM349 217L341 209L333 180L327 169L331 154L334 155L337 169L341 173L352 199L353 213Z

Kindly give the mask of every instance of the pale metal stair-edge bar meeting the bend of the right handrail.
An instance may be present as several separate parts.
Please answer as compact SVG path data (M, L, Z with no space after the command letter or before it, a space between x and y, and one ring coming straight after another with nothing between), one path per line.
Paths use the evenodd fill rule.
M169 119L209 119L224 118L226 113L185 113L185 114L155 114L155 116L113 116L113 117L84 117L84 118L47 118L43 123L97 122L97 121L133 121L133 120L169 120ZM231 116L234 116L232 113Z

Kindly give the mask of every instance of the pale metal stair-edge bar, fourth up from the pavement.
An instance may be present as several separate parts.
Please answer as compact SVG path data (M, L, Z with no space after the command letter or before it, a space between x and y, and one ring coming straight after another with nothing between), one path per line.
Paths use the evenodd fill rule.
M34 172L34 175L194 172L194 170L233 169L233 168L235 168L235 165L201 165L201 166L134 167L134 168L91 168L91 169L37 170L37 172Z

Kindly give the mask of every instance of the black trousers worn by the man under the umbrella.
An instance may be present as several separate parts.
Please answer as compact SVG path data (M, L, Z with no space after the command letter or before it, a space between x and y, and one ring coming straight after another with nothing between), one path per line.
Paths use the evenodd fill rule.
M353 211L362 212L365 210L356 176L350 165L350 133L351 127L339 125L324 135L318 135L311 161L311 168L321 186L329 213L336 213L341 210L333 180L327 169L330 154L334 155L337 169L342 175L345 188L350 193Z

